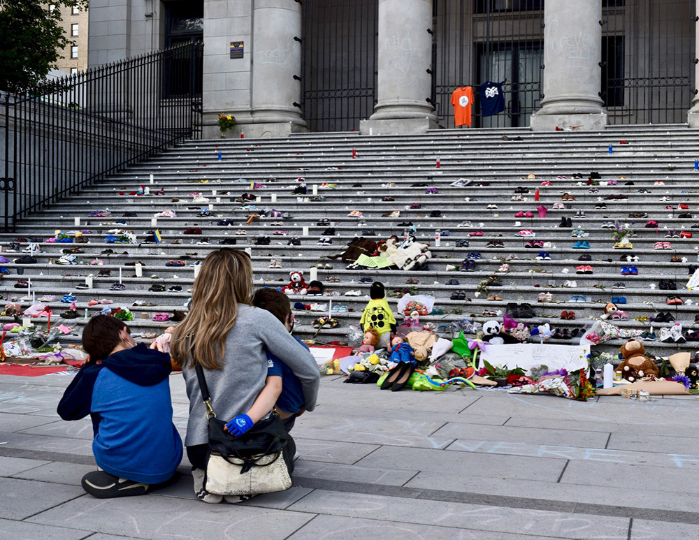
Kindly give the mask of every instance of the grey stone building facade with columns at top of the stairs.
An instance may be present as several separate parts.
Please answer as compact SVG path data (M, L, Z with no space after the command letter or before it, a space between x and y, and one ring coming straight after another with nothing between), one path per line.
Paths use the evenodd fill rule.
M696 125L698 3L92 0L89 64L203 41L205 136L220 113L247 136L454 127L465 87L475 127Z

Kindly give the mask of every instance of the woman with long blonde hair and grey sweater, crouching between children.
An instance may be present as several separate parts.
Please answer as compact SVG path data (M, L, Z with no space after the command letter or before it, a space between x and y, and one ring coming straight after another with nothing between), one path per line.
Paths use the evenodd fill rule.
M312 411L319 386L318 366L270 312L253 307L252 263L245 251L219 249L204 261L194 282L187 318L175 328L171 356L182 366L189 397L187 456L192 463L194 492L204 502L220 502L220 495L203 490L208 429L196 366L201 365L219 418L249 411L265 386L266 350L284 358L301 381L305 409ZM227 502L238 502L226 496ZM236 499L236 500L232 500Z

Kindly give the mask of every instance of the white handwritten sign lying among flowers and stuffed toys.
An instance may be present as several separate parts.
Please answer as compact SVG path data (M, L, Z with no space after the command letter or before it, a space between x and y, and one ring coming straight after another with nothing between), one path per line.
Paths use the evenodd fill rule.
M510 369L521 367L523 370L528 370L538 365L546 365L549 370L574 371L587 368L589 353L589 345L517 343L488 345L481 358L493 366L506 365Z

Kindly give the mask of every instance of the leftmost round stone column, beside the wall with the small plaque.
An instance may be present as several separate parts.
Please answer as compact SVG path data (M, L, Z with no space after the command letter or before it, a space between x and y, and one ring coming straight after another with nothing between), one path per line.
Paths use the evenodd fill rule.
M254 0L252 126L245 136L305 131L301 109L301 3ZM296 38L296 39L294 39ZM258 125L259 124L259 125Z

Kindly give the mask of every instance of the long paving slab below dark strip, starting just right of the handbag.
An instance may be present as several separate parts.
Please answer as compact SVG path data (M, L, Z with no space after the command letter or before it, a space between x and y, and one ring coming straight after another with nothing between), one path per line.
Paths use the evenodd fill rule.
M478 504L403 499L315 490L289 509L329 516L387 518L399 523L462 527L504 534L531 534L570 539L620 539L628 535L628 518L570 515L542 510L498 508ZM322 510L319 510L322 509Z

